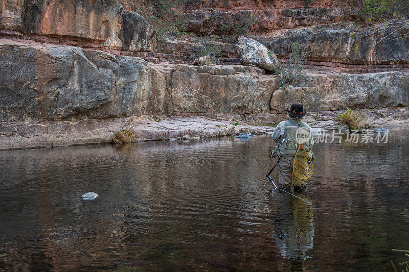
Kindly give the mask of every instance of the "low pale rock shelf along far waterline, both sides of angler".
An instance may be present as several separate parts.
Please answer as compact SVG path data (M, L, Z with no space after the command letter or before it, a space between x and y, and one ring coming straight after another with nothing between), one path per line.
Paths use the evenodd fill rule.
M314 128L338 129L335 118L340 112L309 112L304 121ZM365 110L365 113L374 127L409 125L407 108L381 108ZM74 121L2 122L0 150L110 143L113 134L123 129L131 129L136 135L136 142L210 138L242 132L269 134L274 131L278 121L285 119L285 114L152 117L143 115Z

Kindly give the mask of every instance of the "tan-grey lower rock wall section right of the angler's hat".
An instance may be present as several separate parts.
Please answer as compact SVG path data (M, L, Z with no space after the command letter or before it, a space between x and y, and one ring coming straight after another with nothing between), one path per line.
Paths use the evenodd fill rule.
M351 75L303 75L294 84L271 96L271 110L283 111L298 101L308 111L402 108L409 106L409 73L379 72Z

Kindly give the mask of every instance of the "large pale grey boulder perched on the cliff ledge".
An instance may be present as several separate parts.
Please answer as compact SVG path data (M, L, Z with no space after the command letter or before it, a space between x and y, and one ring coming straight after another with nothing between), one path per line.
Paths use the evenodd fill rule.
M240 37L237 50L240 54L240 62L243 65L255 65L271 71L273 70L273 64L278 62L274 53L252 38Z

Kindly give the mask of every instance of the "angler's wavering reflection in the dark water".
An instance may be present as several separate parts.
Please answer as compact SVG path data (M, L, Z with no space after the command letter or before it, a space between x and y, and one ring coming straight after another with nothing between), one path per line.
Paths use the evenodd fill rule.
M312 202L305 193L294 193L297 197L281 192L279 213L274 217L273 237L286 259L305 260L306 252L313 247L314 222Z

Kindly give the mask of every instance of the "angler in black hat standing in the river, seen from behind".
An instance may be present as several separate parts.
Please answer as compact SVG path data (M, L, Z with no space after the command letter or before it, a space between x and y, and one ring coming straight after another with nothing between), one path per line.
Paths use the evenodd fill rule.
M293 103L290 109L287 108L287 117L290 119L278 124L272 139L277 142L277 146L271 151L271 157L278 157L279 166L279 189L289 191L292 184L292 167L294 156L297 153L300 136L305 151L314 160L311 147L314 144L311 127L301 119L305 116L306 110L300 103ZM294 186L294 192L304 191L306 183Z

